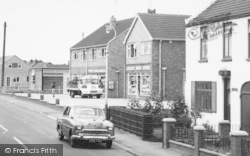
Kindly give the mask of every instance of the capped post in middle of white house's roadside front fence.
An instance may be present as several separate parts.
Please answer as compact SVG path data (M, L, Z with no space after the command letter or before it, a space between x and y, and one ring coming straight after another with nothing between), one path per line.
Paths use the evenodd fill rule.
M194 127L194 156L199 156L199 149L204 147L204 131L203 126Z

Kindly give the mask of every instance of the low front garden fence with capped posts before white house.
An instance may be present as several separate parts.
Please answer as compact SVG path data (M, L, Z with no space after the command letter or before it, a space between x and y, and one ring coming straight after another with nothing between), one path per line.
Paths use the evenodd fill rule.
M188 156L250 156L250 138L245 131L230 132L230 122L219 123L219 131L203 126L193 128L193 143L186 129L176 127L176 120L163 119L163 147L179 149ZM178 134L179 133L179 134ZM190 136L191 137L191 136ZM182 139L180 141L180 139Z

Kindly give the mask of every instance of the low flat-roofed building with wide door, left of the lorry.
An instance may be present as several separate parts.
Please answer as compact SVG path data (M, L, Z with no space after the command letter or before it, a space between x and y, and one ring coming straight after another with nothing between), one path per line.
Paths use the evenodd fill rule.
M55 82L56 93L65 94L69 81L69 66L39 62L29 68L29 77L29 89L31 91L51 92L51 84Z

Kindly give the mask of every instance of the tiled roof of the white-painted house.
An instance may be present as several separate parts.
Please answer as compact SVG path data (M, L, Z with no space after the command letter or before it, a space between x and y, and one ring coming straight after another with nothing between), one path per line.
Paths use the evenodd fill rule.
M216 0L187 26L250 16L250 0Z

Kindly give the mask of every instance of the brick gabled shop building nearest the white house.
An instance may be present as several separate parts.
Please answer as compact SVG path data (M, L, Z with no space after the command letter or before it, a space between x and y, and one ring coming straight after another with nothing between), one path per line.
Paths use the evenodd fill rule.
M138 13L124 40L126 97L159 92L163 99L183 95L187 15Z

